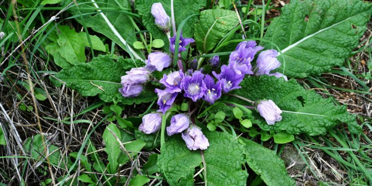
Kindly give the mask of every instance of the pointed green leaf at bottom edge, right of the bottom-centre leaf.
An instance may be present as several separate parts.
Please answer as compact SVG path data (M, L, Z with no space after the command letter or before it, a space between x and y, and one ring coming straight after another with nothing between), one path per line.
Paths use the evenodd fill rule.
M240 138L246 144L244 152L247 163L267 186L295 186L296 182L288 176L284 161L274 151L249 139Z

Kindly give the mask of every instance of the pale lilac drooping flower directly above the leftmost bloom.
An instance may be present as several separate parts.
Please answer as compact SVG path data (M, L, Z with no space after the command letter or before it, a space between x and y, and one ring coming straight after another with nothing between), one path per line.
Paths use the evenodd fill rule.
M122 84L141 84L150 79L151 72L144 67L132 68L122 76Z

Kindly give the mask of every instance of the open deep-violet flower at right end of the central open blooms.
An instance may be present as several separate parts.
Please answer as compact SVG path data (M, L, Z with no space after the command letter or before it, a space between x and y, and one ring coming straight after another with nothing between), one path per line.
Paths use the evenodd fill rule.
M214 71L212 73L221 83L222 90L225 93L230 90L242 88L239 84L242 82L244 74L237 74L234 69L229 68L227 65L224 64L221 66L220 74L217 74Z

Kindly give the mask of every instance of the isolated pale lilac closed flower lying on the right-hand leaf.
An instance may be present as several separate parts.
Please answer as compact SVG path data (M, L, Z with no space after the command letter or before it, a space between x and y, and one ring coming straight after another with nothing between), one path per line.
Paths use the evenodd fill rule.
M272 100L260 101L257 110L259 115L265 119L267 124L274 124L275 122L280 122L282 120L282 111Z

